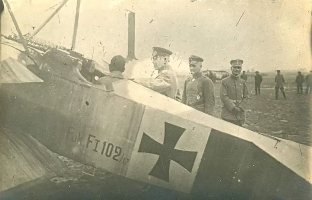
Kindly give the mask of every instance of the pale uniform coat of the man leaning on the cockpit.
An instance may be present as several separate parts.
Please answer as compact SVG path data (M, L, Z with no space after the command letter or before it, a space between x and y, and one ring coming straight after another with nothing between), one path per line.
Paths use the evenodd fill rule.
M140 81L138 83L167 97L176 99L178 93L178 78L170 65L159 70L158 76L155 79Z

